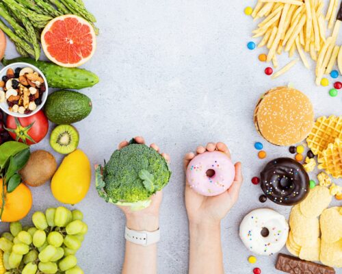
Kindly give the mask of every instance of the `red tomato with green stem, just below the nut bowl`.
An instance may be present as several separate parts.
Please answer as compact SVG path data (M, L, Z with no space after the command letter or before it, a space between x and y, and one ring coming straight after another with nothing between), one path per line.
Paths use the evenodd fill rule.
M8 115L6 124L11 137L27 145L37 144L49 131L49 121L42 110L24 118Z

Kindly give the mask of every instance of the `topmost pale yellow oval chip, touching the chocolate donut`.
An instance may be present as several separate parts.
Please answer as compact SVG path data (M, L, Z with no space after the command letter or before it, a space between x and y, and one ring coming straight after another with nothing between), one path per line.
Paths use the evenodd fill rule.
M318 217L323 210L328 208L332 196L330 191L325 186L315 186L308 196L300 203L300 211L307 218Z

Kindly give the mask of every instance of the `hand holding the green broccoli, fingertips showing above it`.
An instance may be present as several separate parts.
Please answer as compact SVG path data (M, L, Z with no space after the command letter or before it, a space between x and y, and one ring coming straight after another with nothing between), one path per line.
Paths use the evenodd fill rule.
M134 138L135 142L138 144L145 144L144 138L138 136ZM118 149L122 149L129 145L129 142L122 141L120 142ZM151 148L155 149L159 153L159 147L155 144L150 145ZM167 162L170 162L170 156L166 153L161 153L163 158ZM130 206L118 206L122 212L124 212L127 220L127 227L129 229L134 229L137 231L149 231L153 232L159 228L159 206L161 203L161 199L163 197L162 190L158 191L150 197L151 203L148 208L144 208L139 211L132 211Z

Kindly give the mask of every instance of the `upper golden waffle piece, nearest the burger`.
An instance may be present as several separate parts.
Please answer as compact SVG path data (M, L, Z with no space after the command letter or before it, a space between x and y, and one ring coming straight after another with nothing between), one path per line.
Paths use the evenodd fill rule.
M328 147L330 142L334 142L335 138L342 138L342 116L326 116L319 117L311 134L306 138L308 147L315 155L319 155Z

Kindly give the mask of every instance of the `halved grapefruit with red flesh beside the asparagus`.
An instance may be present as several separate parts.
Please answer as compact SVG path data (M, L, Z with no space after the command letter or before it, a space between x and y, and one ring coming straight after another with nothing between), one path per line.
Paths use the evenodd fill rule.
M94 54L94 28L83 18L66 14L51 20L42 31L42 49L52 62L60 66L81 66Z

